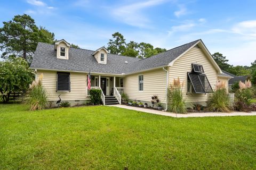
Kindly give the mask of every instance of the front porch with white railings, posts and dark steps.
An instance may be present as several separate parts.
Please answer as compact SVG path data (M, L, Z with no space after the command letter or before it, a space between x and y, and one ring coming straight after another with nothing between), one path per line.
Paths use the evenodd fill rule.
M121 104L123 81L123 77L91 75L91 89L101 90L103 105Z

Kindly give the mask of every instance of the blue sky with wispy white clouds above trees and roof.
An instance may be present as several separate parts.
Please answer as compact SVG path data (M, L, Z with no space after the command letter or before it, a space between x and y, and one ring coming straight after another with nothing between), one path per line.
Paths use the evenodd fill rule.
M256 60L256 1L2 1L0 26L27 13L37 25L81 48L107 46L111 34L127 41L171 49L202 39L213 54L220 52L233 65Z

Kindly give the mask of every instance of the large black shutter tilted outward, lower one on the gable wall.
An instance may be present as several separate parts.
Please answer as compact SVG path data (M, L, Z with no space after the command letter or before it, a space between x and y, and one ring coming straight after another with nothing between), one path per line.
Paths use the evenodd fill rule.
M187 92L206 94L213 92L213 90L205 74L188 73Z

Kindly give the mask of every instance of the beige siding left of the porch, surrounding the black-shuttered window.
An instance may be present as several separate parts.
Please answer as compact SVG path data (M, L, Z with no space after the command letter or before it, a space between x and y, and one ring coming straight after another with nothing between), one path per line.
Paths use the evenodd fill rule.
M42 84L50 101L58 100L85 100L87 99L86 73L70 72L70 92L56 92L56 71L37 70L37 78L43 74Z

